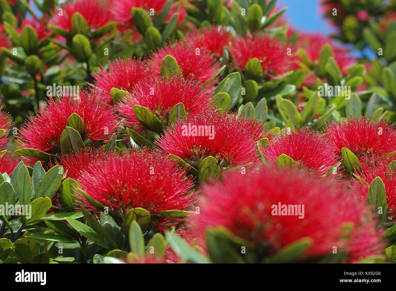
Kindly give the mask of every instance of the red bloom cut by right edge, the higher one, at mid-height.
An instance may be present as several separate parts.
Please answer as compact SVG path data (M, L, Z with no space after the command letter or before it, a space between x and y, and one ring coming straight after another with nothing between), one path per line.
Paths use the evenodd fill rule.
M335 151L341 153L346 147L359 157L382 156L396 151L396 131L394 125L388 125L386 120L374 122L365 117L353 117L346 121L326 124L326 137L333 144Z

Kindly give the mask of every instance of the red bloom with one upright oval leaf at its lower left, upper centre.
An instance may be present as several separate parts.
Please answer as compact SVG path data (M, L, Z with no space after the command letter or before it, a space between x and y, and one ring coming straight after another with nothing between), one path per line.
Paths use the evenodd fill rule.
M165 46L154 52L147 65L155 73L160 73L161 63L167 55L173 56L185 78L193 76L200 82L208 82L215 76L215 72L220 69L219 61L215 61L214 55L207 49L196 50L194 43L177 41L172 46Z

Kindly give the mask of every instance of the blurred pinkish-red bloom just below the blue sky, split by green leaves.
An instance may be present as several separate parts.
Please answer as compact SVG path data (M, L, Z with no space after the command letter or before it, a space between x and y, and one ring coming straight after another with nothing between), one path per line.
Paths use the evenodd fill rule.
M331 46L333 50L332 57L334 57L341 70L356 63L356 57L353 57L348 49L338 46L333 40L321 33L300 33L296 48L304 49L310 61L318 63L320 49L326 43ZM297 59L301 60L299 56ZM343 73L346 74L347 72L344 70Z

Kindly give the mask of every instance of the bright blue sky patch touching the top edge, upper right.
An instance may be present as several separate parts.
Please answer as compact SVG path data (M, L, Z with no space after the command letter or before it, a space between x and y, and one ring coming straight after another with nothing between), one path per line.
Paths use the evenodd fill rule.
M277 6L288 7L285 14L293 27L307 32L330 34L331 28L319 12L319 1L278 0Z

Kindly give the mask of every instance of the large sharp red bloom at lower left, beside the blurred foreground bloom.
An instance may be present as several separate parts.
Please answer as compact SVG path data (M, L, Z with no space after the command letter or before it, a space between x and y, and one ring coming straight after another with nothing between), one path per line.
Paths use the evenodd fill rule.
M104 155L91 163L77 179L90 197L125 214L131 208L142 207L156 216L156 211L187 210L194 203L192 177L170 159L154 155L148 150ZM91 205L81 198L81 204ZM177 220L161 220L172 224Z

